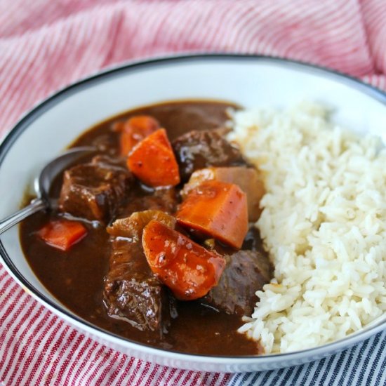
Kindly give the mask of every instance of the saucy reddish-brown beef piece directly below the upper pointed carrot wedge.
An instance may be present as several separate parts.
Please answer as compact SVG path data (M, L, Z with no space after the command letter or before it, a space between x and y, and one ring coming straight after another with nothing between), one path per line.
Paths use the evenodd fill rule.
M153 194L143 197L134 197L122 205L117 212L117 218L125 218L134 212L140 211L162 211L165 213L175 213L178 199L174 187L155 189Z

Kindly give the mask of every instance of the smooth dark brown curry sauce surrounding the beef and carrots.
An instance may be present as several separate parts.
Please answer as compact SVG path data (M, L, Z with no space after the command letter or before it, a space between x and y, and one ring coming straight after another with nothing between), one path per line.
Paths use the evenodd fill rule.
M225 110L228 107L237 106L225 102L186 101L142 107L90 128L71 146L98 144L117 152L118 136L112 130L114 122L137 114L156 118L173 140L187 131L222 126L227 119ZM87 237L69 251L62 252L48 246L36 235L55 217L55 213L39 212L24 220L20 227L22 249L41 283L79 317L128 340L166 350L227 356L262 353L257 342L237 333L237 328L243 324L240 317L213 310L201 305L199 300L180 302L178 317L173 319L163 338L152 331L138 331L125 321L112 319L102 303L102 282L109 265L109 237L105 227L86 222ZM246 244L248 248L261 248L257 232L249 232Z

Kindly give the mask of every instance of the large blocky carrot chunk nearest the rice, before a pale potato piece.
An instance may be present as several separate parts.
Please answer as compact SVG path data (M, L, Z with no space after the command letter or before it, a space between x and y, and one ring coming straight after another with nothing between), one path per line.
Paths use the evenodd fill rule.
M176 217L184 227L241 248L248 232L246 194L234 184L205 181L189 192Z

